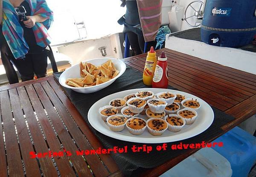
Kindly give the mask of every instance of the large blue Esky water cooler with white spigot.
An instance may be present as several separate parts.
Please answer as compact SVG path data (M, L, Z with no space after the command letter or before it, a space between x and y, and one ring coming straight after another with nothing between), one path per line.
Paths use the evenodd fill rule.
M201 40L213 46L239 47L256 35L256 0L207 0Z

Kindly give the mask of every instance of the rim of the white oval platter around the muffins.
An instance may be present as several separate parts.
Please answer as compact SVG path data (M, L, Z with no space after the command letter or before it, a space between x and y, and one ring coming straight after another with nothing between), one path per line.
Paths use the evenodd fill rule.
M154 91L154 90L158 90L158 91ZM126 90L126 91L120 91L117 93L123 93L123 96L127 95L128 93L136 93L137 91L140 90L145 90L145 88L137 88L137 89L132 89L132 90ZM92 111L92 109L94 107L96 107L96 109L99 107L98 104L100 102L103 102L105 100L105 102L108 102L108 98L109 97L113 97L113 95L117 94L111 94L108 95L100 100L98 100L96 103L93 104L93 106L91 106L90 110L88 111L88 121L91 124L91 126L93 126L93 128L95 128L97 131L101 132L102 134L105 134L106 136L115 138L117 140L124 140L124 141L128 141L128 142L134 142L134 143L169 143L169 142L174 142L174 141L180 141L180 140L185 140L187 138L190 137L194 137L202 132L204 132L205 130L207 130L207 128L209 128L209 126L211 126L213 120L214 120L214 113L212 108L209 106L208 103L206 103L204 100L202 100L199 97L196 97L192 94L183 92L183 91L176 91L176 90L170 90L170 89L161 89L161 88L147 88L148 91L153 91L154 93L160 92L160 91L171 91L171 92L176 92L182 95L187 95L190 97L195 97L198 100L201 101L201 103L203 103L204 106L201 107L201 109L208 109L209 115L207 115L207 120L204 123L204 125L201 126L200 129L197 128L197 130L195 130L195 128L192 128L191 130L185 131L183 132L183 135L178 133L180 136L177 136L178 134L174 134L174 135L170 135L170 136L152 136L152 137L140 137L136 136L136 135L132 135L132 134L118 134L116 132L111 131L110 129L102 129L102 126L97 126L97 124L95 123L95 121L93 121L93 119L99 118L100 121L102 121L101 117L98 116L98 112L94 112ZM102 121L102 123L104 123ZM192 126L193 124L189 125ZM187 133L190 132L190 133ZM185 133L185 135L184 135Z

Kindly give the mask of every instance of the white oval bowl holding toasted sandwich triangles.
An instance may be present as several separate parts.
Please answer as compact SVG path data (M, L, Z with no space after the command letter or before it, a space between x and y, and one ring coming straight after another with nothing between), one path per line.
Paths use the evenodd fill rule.
M118 77L120 77L122 74L124 74L124 72L126 70L126 65L121 60L117 60L115 58L96 58L96 59L91 59L91 60L84 61L84 62L87 62L87 63L92 63L95 66L99 66L99 65L105 63L108 60L111 60L113 62L113 64L115 65L116 69L119 71L119 74L115 78L109 80L108 82L99 84L97 86L90 86L90 87L71 87L71 86L68 86L65 83L66 79L68 79L68 78L81 78L81 76L80 76L80 66L79 66L79 63L78 63L74 66L71 66L69 69L65 70L61 74L61 76L59 77L59 83L61 84L61 86L64 86L66 88L70 88L73 91L76 91L76 92L79 92L79 93L87 94L87 93L93 93L93 92L99 91L99 90L111 85L111 83L113 83Z

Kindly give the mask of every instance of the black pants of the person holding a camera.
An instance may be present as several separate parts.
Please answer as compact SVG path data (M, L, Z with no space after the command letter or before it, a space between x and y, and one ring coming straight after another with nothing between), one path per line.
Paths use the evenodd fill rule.
M47 51L45 49L42 53L26 54L25 59L12 58L12 63L19 71L22 81L34 79L34 74L37 78L47 76Z

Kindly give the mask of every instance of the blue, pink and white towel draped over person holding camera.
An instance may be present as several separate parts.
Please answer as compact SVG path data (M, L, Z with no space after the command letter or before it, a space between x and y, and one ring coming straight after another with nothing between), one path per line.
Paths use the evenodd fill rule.
M31 8L31 16L40 15L47 18L42 23L35 23L32 28L38 46L46 47L50 42L48 29L53 21L53 12L47 6L45 0L26 0ZM15 59L23 59L29 51L29 46L23 37L23 28L19 18L9 0L3 0L3 35L12 51Z

